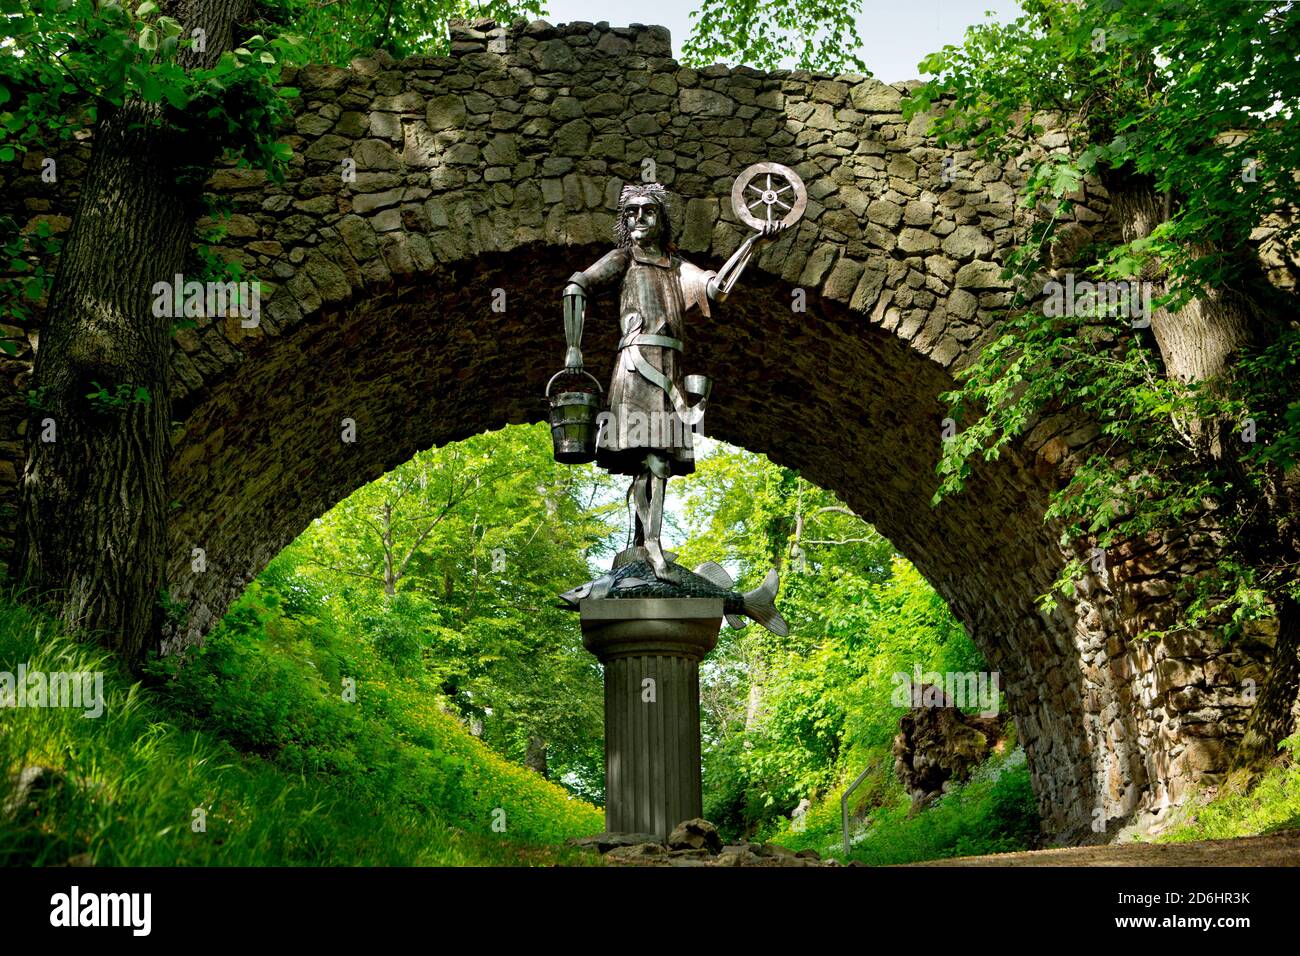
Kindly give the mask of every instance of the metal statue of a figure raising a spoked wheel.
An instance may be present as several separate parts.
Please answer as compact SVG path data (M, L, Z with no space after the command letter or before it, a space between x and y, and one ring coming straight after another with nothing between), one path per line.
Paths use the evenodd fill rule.
M645 549L650 571L663 581L675 576L659 542L664 489L670 476L689 475L696 468L694 432L710 390L707 377L685 375L682 369L686 315L698 310L707 319L710 303L727 299L755 246L803 215L807 194L793 170L759 163L736 179L732 206L755 233L722 269L712 272L677 255L663 186L624 186L614 228L618 247L584 272L575 272L564 287L564 367L567 373L577 375L582 372L586 300L616 280L621 284L623 334L606 395L607 411L599 416L595 463L614 475L633 476L628 489L634 507L633 545ZM554 405L560 401L584 412L576 393L566 393ZM566 423L571 436L576 433L572 421L571 416Z

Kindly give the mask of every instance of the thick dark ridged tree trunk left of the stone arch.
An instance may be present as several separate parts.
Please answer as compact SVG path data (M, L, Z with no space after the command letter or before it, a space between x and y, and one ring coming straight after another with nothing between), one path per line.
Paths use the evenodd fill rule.
M205 51L182 65L216 62L250 7L169 4L186 35L205 30ZM40 329L17 542L22 579L133 665L156 641L166 541L172 320L152 315L151 290L183 269L200 209L194 165L211 163L161 117L129 100L96 122ZM148 401L87 398L139 388Z

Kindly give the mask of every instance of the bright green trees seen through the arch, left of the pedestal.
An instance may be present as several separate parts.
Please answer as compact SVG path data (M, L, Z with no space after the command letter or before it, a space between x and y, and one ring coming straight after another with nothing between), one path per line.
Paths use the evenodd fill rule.
M598 800L601 672L556 594L595 574L584 554L607 548L611 497L607 476L555 463L545 425L507 428L359 489L278 566L502 754L521 761L540 739L551 775Z

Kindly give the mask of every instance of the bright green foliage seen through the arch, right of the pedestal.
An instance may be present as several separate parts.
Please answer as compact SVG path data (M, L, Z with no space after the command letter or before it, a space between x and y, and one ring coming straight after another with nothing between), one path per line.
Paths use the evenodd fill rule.
M788 468L719 447L681 494L680 561L725 555L741 587L783 571L790 636L727 628L701 674L705 813L728 835L754 836L801 799L892 766L896 674L978 671L983 661L911 564Z

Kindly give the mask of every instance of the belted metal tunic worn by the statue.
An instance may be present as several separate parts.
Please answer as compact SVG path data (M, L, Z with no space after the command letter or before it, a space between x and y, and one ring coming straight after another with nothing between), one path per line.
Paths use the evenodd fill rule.
M715 274L681 256L655 259L636 246L614 250L581 274L580 284L589 293L623 278L623 338L595 449L601 468L638 475L645 471L646 453L658 451L668 460L671 475L696 470L693 421L682 419L688 410L681 346L685 315L698 308L708 316L708 280Z

